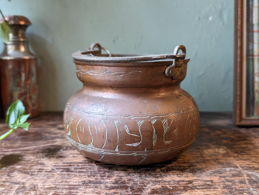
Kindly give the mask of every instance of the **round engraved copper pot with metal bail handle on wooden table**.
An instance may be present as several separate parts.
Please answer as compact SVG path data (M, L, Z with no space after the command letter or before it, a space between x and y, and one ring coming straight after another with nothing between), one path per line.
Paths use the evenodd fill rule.
M159 163L188 149L199 111L180 88L190 61L185 47L153 56L104 55L102 49L92 44L72 55L83 88L64 111L71 144L96 161L121 165Z

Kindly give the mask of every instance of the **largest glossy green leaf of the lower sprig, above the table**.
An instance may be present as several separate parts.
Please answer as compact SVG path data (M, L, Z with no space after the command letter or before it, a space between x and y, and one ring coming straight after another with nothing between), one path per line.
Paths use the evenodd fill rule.
M6 124L13 128L13 124L19 124L19 118L25 114L25 107L20 100L13 103L6 112Z

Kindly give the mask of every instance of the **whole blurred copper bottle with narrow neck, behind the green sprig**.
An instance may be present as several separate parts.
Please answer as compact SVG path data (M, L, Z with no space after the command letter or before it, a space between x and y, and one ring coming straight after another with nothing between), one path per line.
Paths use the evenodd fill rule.
M2 19L3 20L3 19ZM23 16L6 16L11 33L0 54L1 112L20 99L30 117L38 115L37 58L29 49L25 30L31 25Z

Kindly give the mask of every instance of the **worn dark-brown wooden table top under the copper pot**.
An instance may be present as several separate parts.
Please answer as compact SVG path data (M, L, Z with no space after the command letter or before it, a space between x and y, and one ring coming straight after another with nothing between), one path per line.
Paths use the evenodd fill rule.
M199 135L175 160L120 166L90 160L66 138L62 113L30 119L0 141L0 194L258 194L259 128L201 113ZM0 121L0 134L8 131Z

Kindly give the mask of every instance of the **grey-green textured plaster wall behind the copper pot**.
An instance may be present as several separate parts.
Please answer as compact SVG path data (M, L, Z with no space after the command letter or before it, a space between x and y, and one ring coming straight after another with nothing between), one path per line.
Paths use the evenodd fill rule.
M0 8L33 24L27 35L39 58L41 110L63 110L82 88L71 54L92 42L140 54L185 45L191 61L181 87L200 111L232 110L233 0L2 0Z

